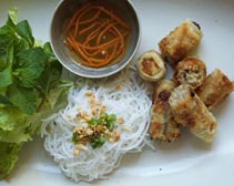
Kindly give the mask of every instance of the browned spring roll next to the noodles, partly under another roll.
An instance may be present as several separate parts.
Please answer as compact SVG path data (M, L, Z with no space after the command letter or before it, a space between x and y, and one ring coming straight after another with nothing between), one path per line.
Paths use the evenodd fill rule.
M151 107L150 135L153 140L175 141L181 136L180 126L174 121L169 97L175 84L170 80L159 82L153 95L153 105Z

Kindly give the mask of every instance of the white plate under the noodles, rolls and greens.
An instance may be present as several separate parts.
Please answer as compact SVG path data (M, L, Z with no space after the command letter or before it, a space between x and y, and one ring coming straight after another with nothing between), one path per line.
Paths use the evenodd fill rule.
M0 23L9 7L19 9L20 19L28 19L37 39L49 40L49 24L59 0L0 0ZM233 0L133 0L142 25L142 43L135 59L150 49L186 18L201 24L204 38L197 55L207 71L220 68L234 80L234 1ZM120 2L121 3L121 2ZM145 148L126 155L119 169L106 180L94 185L213 185L234 184L234 93L214 114L218 121L215 141L208 145L183 131L180 141L157 144L157 151ZM77 185L65 178L43 149L42 141L26 144L9 183L1 186ZM80 185L90 185L80 183Z

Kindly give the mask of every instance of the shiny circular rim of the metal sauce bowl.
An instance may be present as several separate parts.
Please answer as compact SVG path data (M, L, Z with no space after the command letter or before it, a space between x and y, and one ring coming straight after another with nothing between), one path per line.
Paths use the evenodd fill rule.
M139 33L138 33L138 39L136 39L136 42L135 42L135 45L133 48L133 51L131 52L130 56L126 59L125 62L123 62L120 66L118 66L116 69L114 69L113 71L110 71L110 72L105 72L105 73L100 73L100 74L89 74L89 73L79 73L78 71L75 71L75 69L73 69L72 66L70 66L67 62L64 62L62 60L62 58L58 54L57 50L55 50L55 46L53 44L53 39L52 39L52 30L53 30L53 21L54 21L54 17L58 12L58 10L60 9L61 4L67 1L67 0L61 0L57 7L54 8L53 10L53 16L51 18L51 21L50 21L50 37L49 37L49 40L50 40L50 43L51 43L51 48L53 50L53 53L55 55L55 58L58 59L58 61L63 65L63 68L65 68L68 71L72 72L73 74L75 75L79 75L79 76L82 76L82 78L90 78L90 79L101 79L101 78L106 78L106 76L111 76L118 72L120 72L122 69L124 69L131 61L132 59L134 58L136 51L139 50L139 46L140 46L140 43L141 43L141 38L142 38L142 28L141 28L141 20L140 20L140 17L139 17L139 13L138 13L138 10L134 6L134 3L132 2L132 0L125 0L131 9L133 10L133 13L135 16L135 19L136 19L136 23L138 23L138 30L139 30ZM72 61L72 63L74 63ZM113 65L112 65L113 66ZM90 69L94 69L94 68L90 68ZM100 69L105 69L104 68L100 68Z

